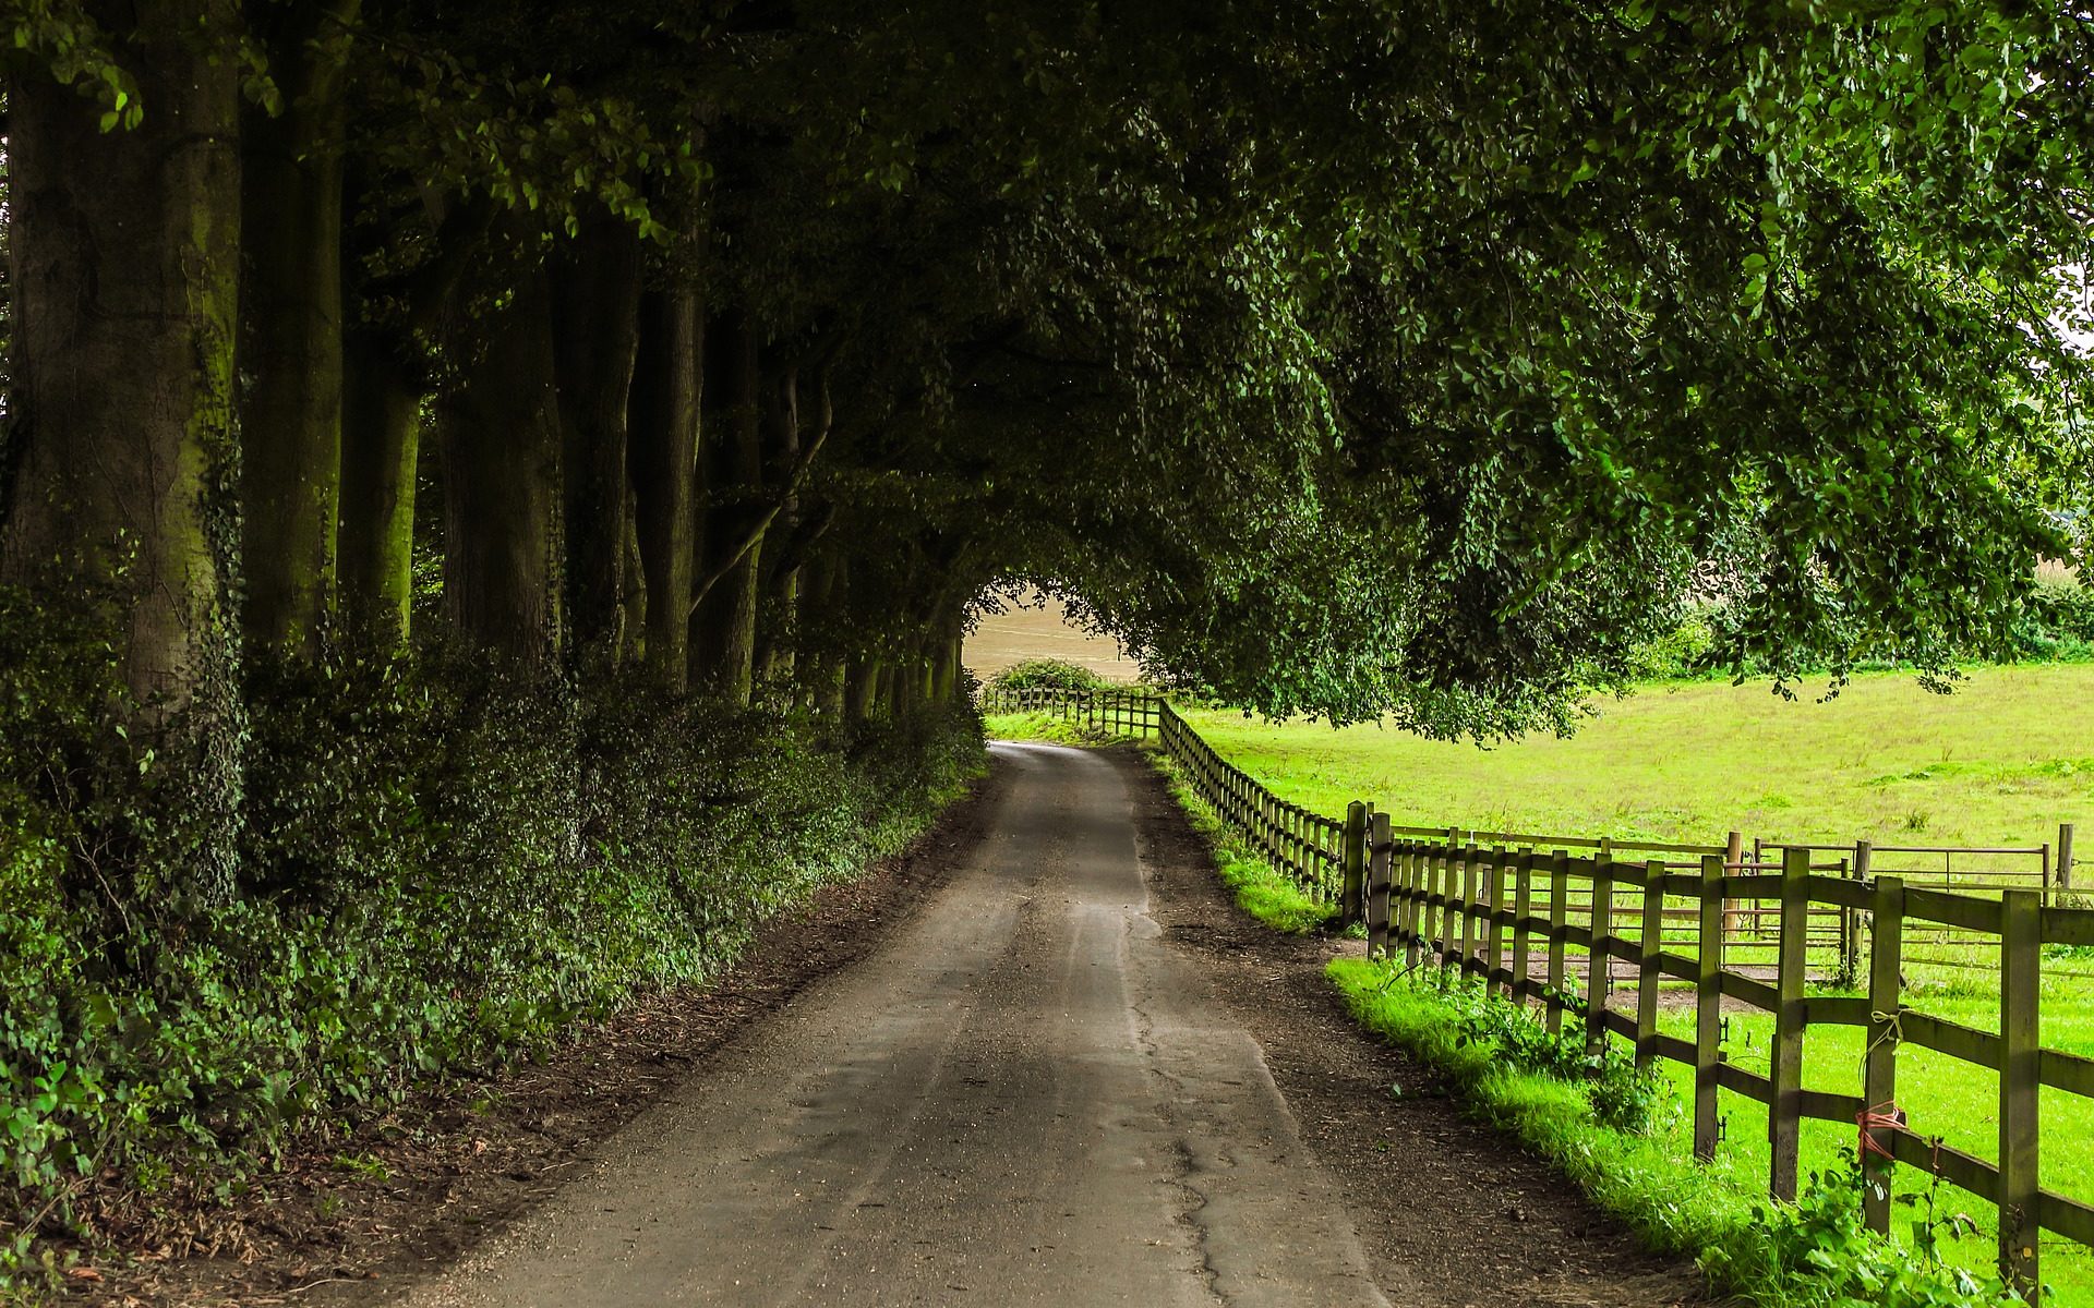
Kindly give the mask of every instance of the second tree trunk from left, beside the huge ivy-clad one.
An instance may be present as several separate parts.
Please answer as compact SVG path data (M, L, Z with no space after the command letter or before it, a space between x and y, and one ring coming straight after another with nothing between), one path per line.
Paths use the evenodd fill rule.
M283 113L247 109L241 155L243 626L310 649L335 592L341 498L341 59L314 52L356 0L264 8Z

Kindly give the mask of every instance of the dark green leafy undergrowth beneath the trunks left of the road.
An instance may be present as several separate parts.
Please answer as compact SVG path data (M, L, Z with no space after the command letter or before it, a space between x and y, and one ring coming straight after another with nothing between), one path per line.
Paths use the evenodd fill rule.
M0 1298L54 1270L40 1237L232 1199L293 1138L716 975L982 762L963 705L838 730L333 651L249 674L230 894L184 896L180 770L121 730L107 645L4 619Z

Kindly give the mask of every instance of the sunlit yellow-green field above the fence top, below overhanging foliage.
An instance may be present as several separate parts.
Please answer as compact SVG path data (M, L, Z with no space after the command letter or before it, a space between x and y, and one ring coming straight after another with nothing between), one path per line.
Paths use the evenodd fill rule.
M2094 666L1981 668L1954 695L1857 676L1830 703L1767 682L1646 686L1570 739L1478 749L1380 726L1187 718L1321 812L1397 825L1721 843L2037 845L2094 816ZM2086 829L2086 822L2081 822ZM2094 881L2094 831L2077 850Z

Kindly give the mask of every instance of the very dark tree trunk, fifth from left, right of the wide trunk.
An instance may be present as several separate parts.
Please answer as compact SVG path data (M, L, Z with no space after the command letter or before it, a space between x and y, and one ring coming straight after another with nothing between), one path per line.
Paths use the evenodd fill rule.
M626 402L639 339L641 241L609 211L551 270L565 458L574 649L618 659L626 590Z

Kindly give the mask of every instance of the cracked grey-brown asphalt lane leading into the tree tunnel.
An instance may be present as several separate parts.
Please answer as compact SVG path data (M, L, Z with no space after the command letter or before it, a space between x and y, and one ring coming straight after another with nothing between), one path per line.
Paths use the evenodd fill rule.
M1384 1304L1250 1032L1148 912L1104 758L413 1304ZM833 929L850 929L838 923Z

